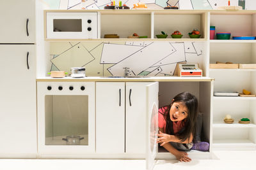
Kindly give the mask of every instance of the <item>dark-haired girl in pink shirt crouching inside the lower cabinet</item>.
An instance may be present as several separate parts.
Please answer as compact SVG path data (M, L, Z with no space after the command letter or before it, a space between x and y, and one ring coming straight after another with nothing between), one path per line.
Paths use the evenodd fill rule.
M159 108L158 111L157 143L182 162L191 160L184 151L190 150L193 146L197 110L196 97L189 92L182 92L172 99L169 106Z

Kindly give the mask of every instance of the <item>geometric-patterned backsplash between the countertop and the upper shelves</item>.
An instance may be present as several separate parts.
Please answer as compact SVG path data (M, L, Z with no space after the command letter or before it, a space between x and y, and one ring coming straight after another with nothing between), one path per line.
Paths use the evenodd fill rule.
M83 41L51 42L51 71L85 67L86 76L172 76L177 62L202 66L204 42Z

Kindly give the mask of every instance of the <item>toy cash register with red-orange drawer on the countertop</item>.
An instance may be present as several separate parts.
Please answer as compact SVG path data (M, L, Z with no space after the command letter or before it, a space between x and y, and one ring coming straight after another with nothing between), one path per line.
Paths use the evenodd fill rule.
M181 77L202 77L202 69L198 67L198 64L179 64L177 67L178 76Z

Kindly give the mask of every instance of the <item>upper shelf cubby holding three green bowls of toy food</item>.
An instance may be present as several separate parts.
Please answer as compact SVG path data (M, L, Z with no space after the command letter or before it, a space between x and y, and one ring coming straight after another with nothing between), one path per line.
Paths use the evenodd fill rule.
M156 12L154 14L154 38L156 38L156 34L161 34L161 31L166 32L168 38L172 38L171 34L174 31L180 31L183 35L182 38L189 38L188 33L198 29L201 34L200 39L204 39L207 34L207 31L205 31L205 16L206 13L204 12Z

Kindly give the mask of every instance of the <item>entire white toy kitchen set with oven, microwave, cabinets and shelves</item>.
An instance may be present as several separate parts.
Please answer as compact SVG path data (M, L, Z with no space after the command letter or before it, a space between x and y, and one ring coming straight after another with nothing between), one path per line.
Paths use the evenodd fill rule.
M4 2L6 9L13 8ZM239 100L213 96L214 91L228 88L255 92L254 70L209 67L216 60L231 58L237 63L256 63L255 40L210 40L209 34L210 25L226 31L223 23L227 21L239 28L250 27L240 28L246 34L256 34L255 11L47 10L41 1L31 2L30 6L20 2L22 8L17 11L22 15L15 10L10 10L15 16L9 10L0 11L0 16L8 14L13 23L24 25L17 35L10 29L13 25L1 28L9 36L4 34L0 39L4 55L0 65L15 66L20 73L13 79L17 69L8 69L13 76L3 74L3 81L8 83L0 85L4 120L0 131L6 139L0 141L1 158L146 159L150 169L154 159L175 159L158 148L155 117L158 108L184 91L199 101L204 113L202 140L210 144L207 152L191 150L192 159L210 158L214 148L227 143L241 150L256 148L254 98L237 98L242 103L244 99L250 101L241 106L234 104ZM26 11L31 11L29 16ZM236 16L241 24L237 24ZM179 38L170 36L177 29ZM196 38L190 35L195 29ZM236 30L230 32L235 34ZM164 38L157 38L162 31ZM236 52L227 50L229 46ZM243 85L234 83L237 79L232 71L237 71ZM225 111L215 106L222 104L222 99L246 110L243 114L232 110L236 113L232 118L250 118L251 124L244 125L249 128L219 124ZM17 139L22 140L13 142ZM236 141L242 143L237 146Z

